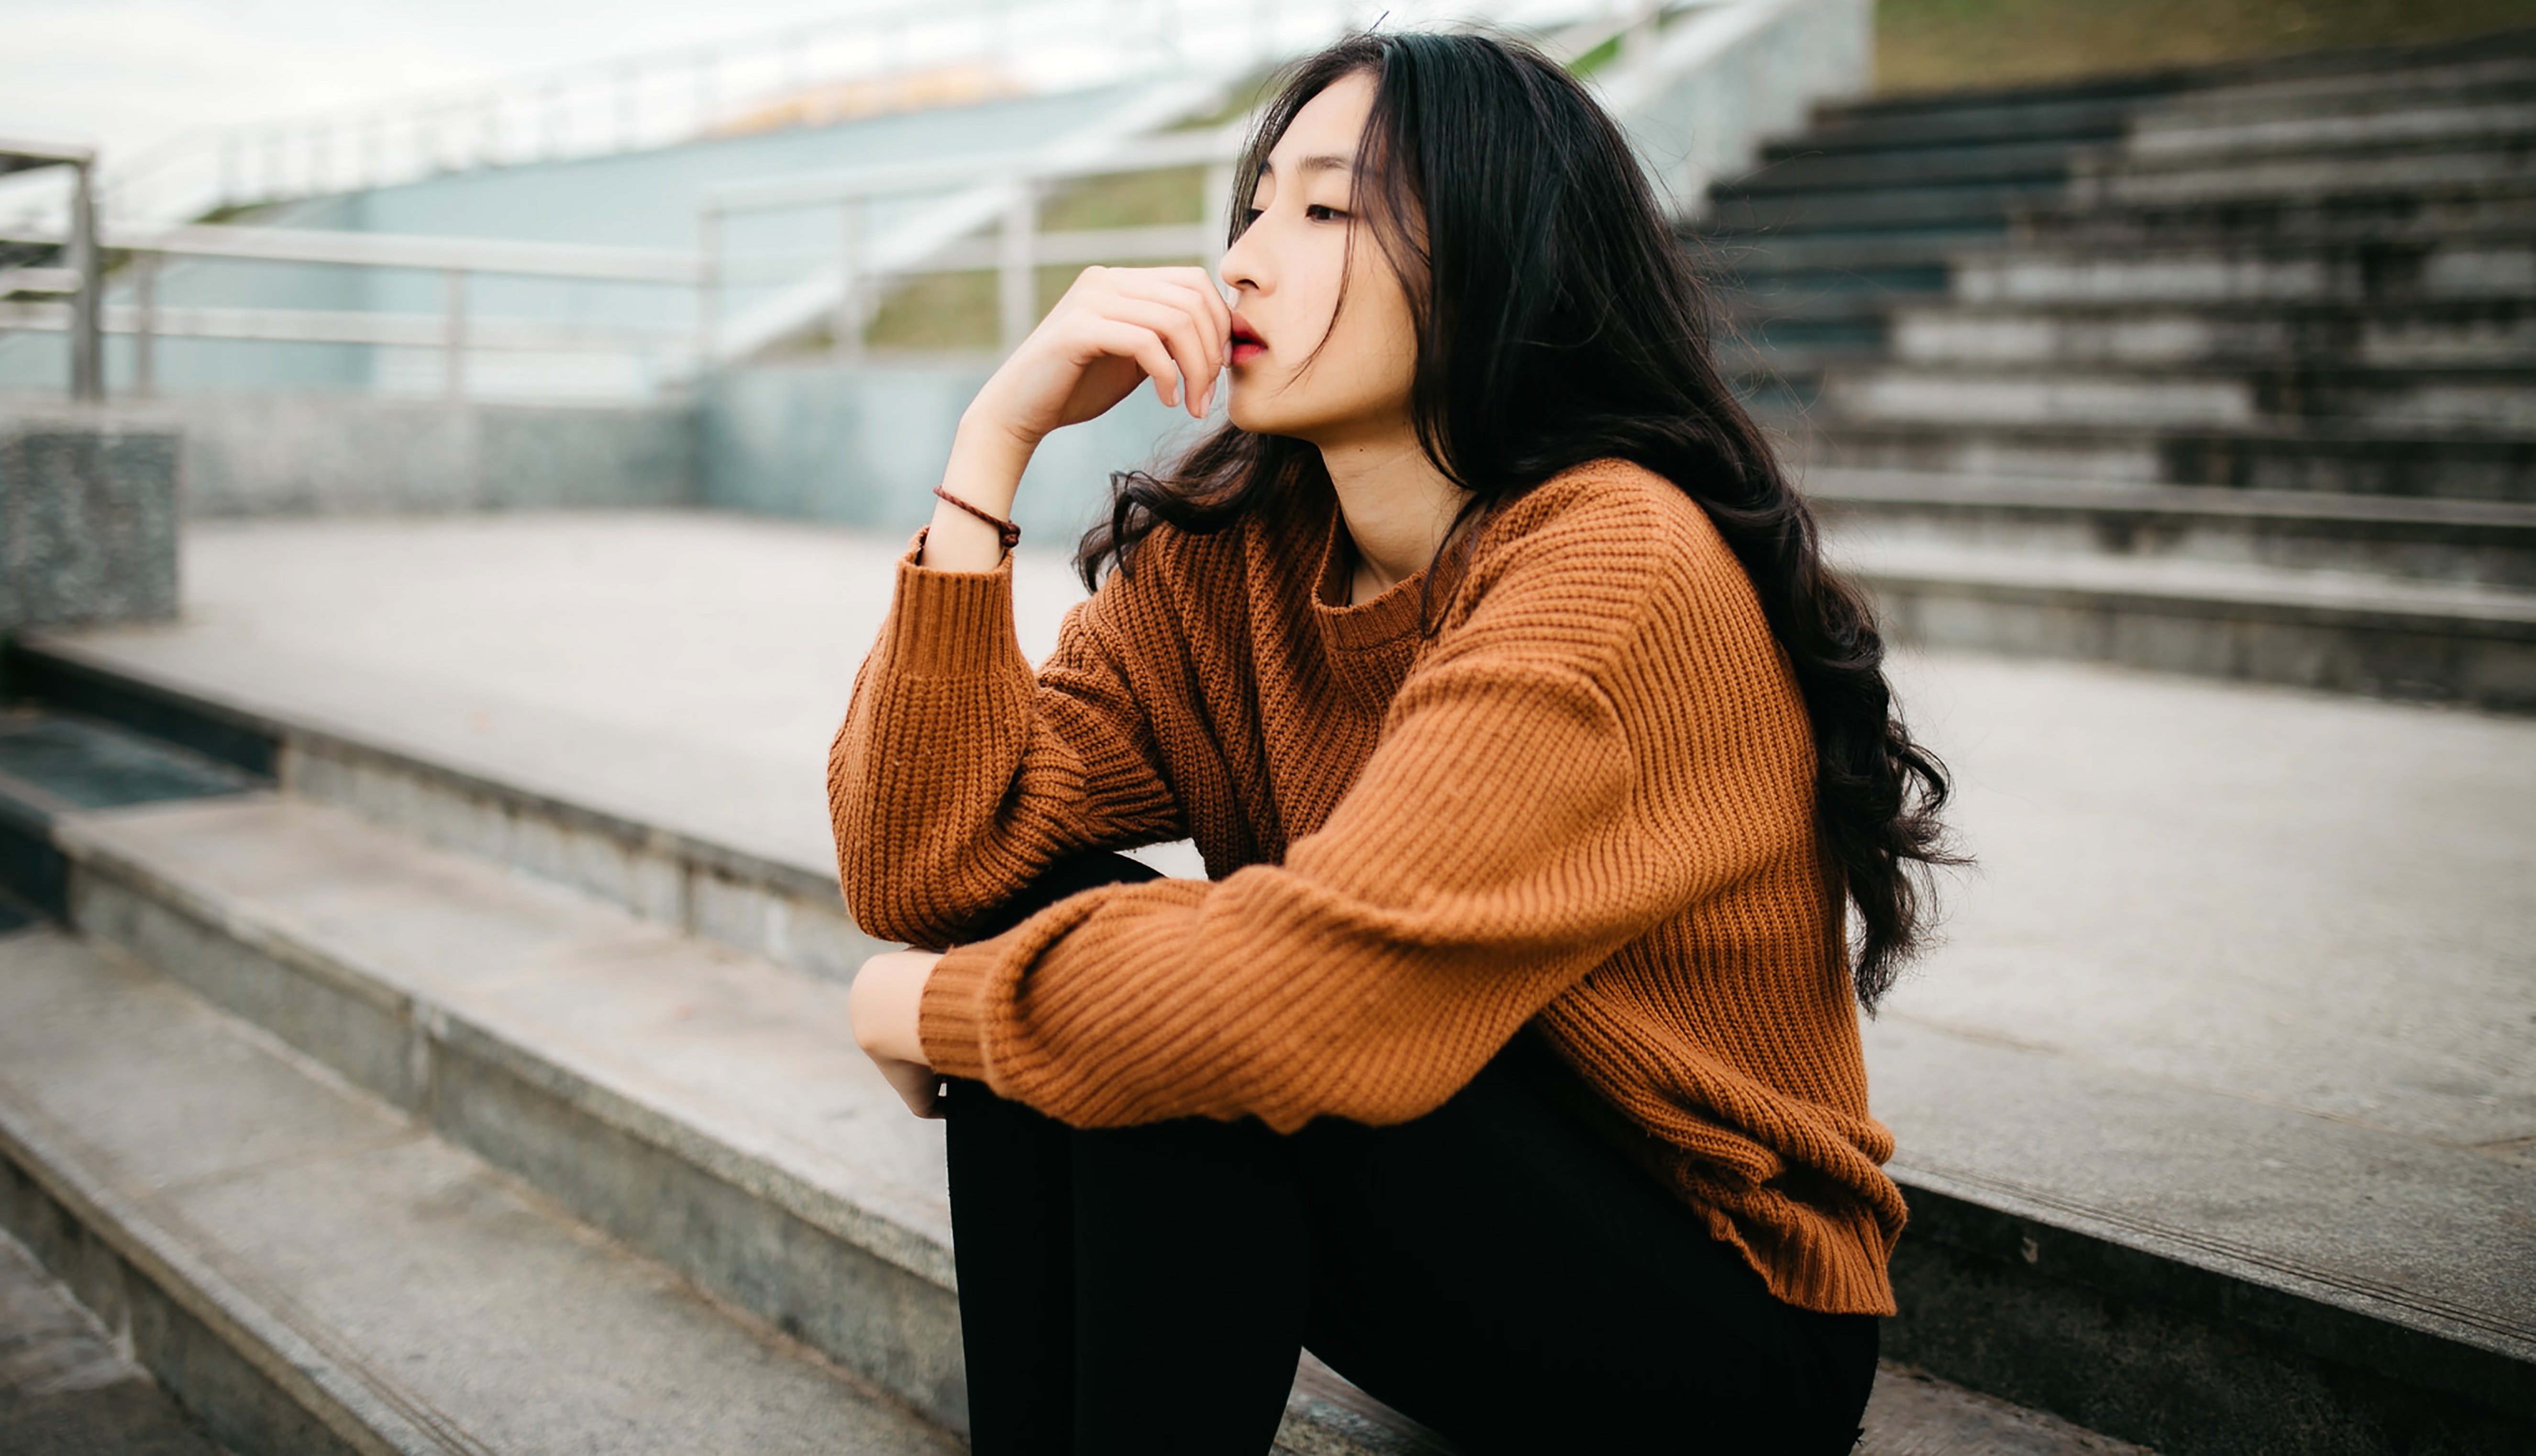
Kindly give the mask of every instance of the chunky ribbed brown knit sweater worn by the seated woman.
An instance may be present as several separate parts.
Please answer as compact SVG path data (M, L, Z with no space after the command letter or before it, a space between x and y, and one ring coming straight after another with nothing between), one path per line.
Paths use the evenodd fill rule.
M1344 606L1316 500L1156 530L1032 675L1012 566L898 566L829 758L862 926L956 946L933 1068L1078 1126L1415 1119L1527 1022L1806 1309L1892 1314L1902 1195L1813 840L1813 741L1742 566L1646 469L1572 469L1466 571ZM1070 850L1194 837L959 944ZM1626 1121L1623 1121L1626 1119Z

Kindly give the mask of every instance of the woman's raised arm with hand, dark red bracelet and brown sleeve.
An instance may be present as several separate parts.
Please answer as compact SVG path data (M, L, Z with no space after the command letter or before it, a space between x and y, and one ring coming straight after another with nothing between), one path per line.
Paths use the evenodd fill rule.
M1202 269L1085 269L964 411L943 490L1009 515L1037 441L1146 378L1202 416L1227 337ZM829 751L829 809L862 926L946 944L1065 850L1182 829L1118 667L1121 594L1075 609L1035 677L997 530L941 502L921 540Z

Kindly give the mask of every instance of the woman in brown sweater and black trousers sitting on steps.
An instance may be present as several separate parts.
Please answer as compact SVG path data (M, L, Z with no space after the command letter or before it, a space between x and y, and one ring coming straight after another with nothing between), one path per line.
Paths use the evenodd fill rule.
M1869 611L1557 66L1349 38L1240 175L1235 307L1093 269L979 391L834 746L974 1448L1253 1456L1309 1347L1468 1451L1846 1451L1945 796ZM1032 675L1032 446L1222 375Z

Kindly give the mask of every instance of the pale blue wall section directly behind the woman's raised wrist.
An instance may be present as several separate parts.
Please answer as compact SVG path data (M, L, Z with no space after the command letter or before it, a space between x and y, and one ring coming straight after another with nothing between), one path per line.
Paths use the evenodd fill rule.
M961 408L992 360L738 368L705 393L700 500L758 515L799 515L915 530L951 457ZM1108 505L1108 474L1149 464L1197 421L1136 391L1106 416L1052 434L1014 500L1027 540L1070 543Z

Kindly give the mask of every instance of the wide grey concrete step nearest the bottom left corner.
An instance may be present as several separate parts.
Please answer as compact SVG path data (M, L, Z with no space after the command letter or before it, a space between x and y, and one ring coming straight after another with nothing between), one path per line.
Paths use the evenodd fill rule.
M956 1448L119 954L0 1002L0 1218L233 1451Z

